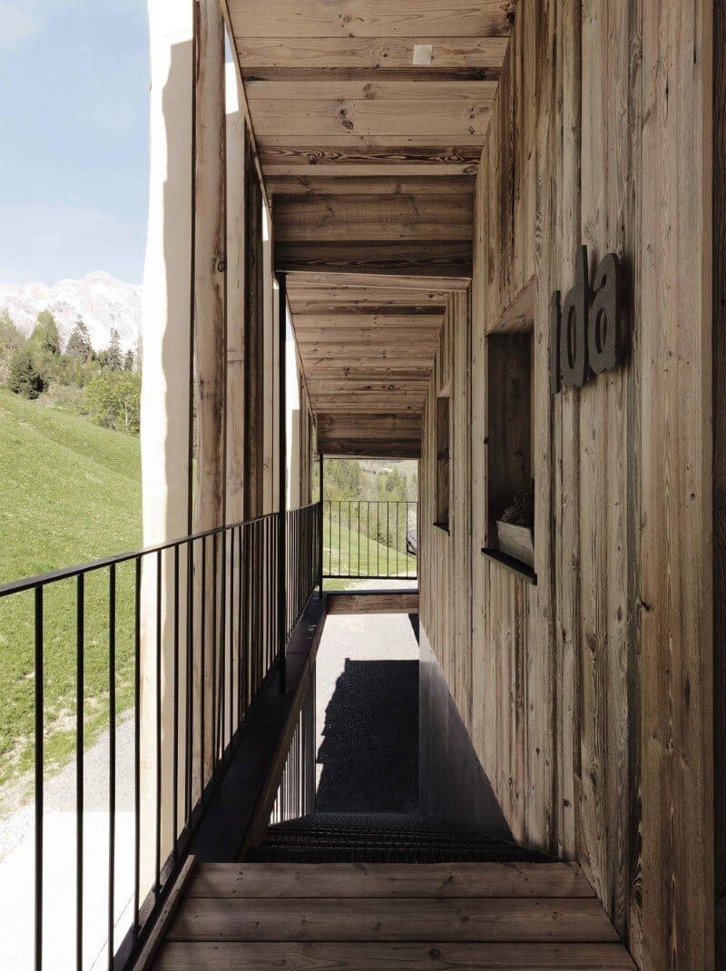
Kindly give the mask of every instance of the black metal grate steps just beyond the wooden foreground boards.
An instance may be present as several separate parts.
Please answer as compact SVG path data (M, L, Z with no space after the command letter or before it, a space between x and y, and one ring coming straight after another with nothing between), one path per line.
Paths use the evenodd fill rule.
M477 829L404 813L316 813L279 823L248 859L268 863L551 862Z

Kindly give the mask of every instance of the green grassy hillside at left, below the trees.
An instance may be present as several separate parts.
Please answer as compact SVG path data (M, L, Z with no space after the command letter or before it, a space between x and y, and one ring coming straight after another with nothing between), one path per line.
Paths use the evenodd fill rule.
M139 440L39 401L0 390L0 583L141 545ZM88 735L106 720L108 575L86 582L84 709ZM119 706L130 698L132 586L119 570ZM76 586L46 595L49 761L73 744ZM31 594L0 600L0 782L32 758Z

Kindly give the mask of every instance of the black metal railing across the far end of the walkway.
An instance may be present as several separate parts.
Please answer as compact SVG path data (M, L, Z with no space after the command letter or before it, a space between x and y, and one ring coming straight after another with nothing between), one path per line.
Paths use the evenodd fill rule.
M417 518L417 502L323 500L323 577L415 580Z

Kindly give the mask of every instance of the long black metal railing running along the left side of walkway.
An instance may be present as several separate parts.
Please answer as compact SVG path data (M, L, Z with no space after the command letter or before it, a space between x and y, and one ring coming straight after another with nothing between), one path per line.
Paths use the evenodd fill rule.
M18 616L27 613L18 629L32 638L34 656L36 969L44 966L44 957L47 967L84 969L99 950L105 951L109 969L123 968L143 945L247 711L279 665L287 635L319 583L319 515L319 504L287 514L284 572L279 570L281 516L275 513L0 586L0 634L8 618L17 624ZM49 623L57 626L58 611L72 619L62 628L71 635L65 641L56 638L49 654L45 631ZM73 697L46 673L58 651L75 653ZM97 697L92 702L95 708L104 704L108 715L108 853L106 915L102 927L92 928L94 936L84 923L89 862L84 724L90 674L95 689L99 670L105 689L101 702ZM123 767L133 777L134 821L130 841L121 845L116 735L129 709L133 765ZM53 737L58 712L64 713L67 731L69 710L75 732L75 872L64 874L62 886L49 886L44 866L46 741ZM119 887L117 860L128 854L133 854L133 877ZM61 955L57 941L44 940L44 915L49 901L58 907L68 899L69 886L75 887L75 906L65 905L75 911L74 954ZM122 912L128 915L125 923Z

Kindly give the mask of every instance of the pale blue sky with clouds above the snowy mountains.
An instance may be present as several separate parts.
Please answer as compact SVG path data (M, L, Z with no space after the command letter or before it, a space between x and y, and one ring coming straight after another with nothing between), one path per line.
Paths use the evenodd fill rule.
M145 0L0 0L0 98L0 283L141 283Z

